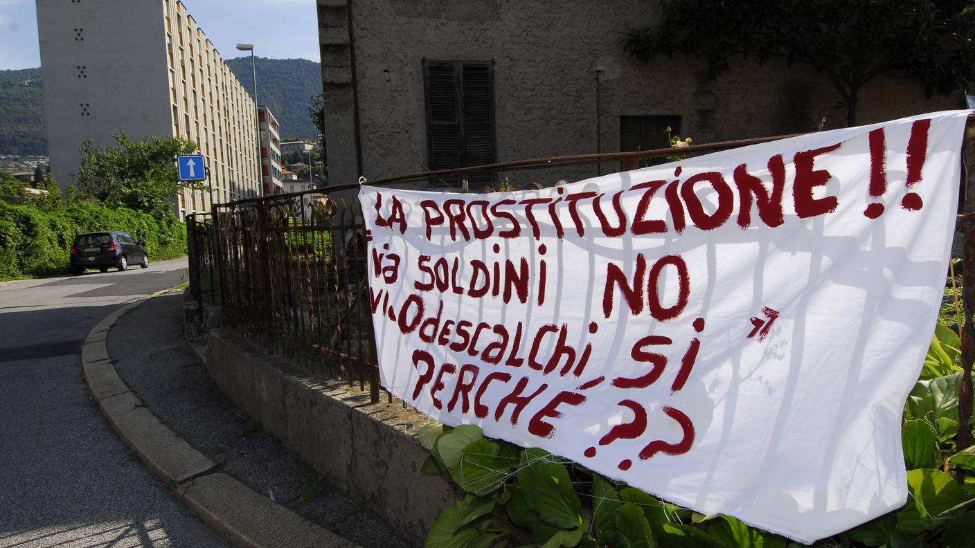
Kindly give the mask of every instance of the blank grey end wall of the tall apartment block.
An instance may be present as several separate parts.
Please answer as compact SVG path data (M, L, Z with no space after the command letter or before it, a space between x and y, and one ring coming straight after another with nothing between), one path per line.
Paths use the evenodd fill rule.
M37 0L51 173L61 188L87 139L173 135L162 21L161 0Z

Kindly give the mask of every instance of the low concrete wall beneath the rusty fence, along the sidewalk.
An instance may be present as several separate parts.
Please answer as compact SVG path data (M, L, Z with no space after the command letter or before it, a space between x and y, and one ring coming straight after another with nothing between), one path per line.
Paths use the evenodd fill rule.
M418 543L454 489L420 472L427 418L269 355L231 329L210 332L207 371L224 394L340 489Z

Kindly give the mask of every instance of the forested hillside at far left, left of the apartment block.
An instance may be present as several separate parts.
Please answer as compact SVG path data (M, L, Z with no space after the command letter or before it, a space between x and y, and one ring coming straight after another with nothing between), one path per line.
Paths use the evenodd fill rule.
M0 70L0 154L47 153L41 69Z

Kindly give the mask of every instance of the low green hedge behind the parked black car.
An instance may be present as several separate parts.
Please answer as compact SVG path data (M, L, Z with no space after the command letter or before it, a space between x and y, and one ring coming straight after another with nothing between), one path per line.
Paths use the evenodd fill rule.
M186 227L170 212L147 214L75 202L54 211L0 201L0 280L68 272L75 235L121 230L145 242L150 259L186 254Z

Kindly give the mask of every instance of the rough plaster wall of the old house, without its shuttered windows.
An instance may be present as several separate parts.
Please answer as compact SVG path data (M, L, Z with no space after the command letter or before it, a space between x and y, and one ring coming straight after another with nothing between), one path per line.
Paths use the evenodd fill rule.
M351 31L322 14L343 0L319 0L326 80L329 167L349 182L354 157L331 153L331 132L354 137L351 91L358 98L362 175L370 179L426 169L423 59L493 60L497 160L597 152L596 79L601 74L601 151L618 151L621 115L681 115L695 142L811 131L845 125L837 93L811 68L742 61L709 82L694 58L630 59L622 33L659 19L654 0L357 0ZM323 5L332 6L323 11ZM337 11L337 12L336 12ZM337 21L340 18L333 18ZM338 24L337 22L335 24ZM332 101L327 41L354 43L355 86ZM337 58L336 64L344 58ZM342 72L343 75L348 71ZM354 88L354 90L353 90ZM334 86L333 91L338 91ZM860 97L858 123L955 108L957 98L923 98L917 83L878 79ZM336 93L336 96L338 94ZM349 147L347 145L346 150ZM337 149L336 149L337 150ZM595 166L511 176L551 184L594 176ZM358 174L357 174L358 175Z

